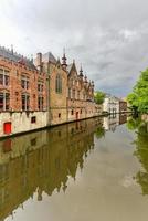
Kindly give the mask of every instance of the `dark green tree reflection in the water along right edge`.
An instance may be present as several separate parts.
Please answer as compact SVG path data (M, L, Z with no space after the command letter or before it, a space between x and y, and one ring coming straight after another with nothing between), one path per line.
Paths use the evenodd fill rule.
M135 156L137 156L142 168L136 175L136 181L140 185L142 194L148 194L148 122L141 118L129 118L127 124L129 129L136 130L137 138Z

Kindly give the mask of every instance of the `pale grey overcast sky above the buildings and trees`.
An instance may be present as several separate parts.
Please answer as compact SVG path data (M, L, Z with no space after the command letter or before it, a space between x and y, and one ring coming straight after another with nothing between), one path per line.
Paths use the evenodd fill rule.
M121 97L148 66L148 0L0 0L0 44L29 57L65 48L96 90Z

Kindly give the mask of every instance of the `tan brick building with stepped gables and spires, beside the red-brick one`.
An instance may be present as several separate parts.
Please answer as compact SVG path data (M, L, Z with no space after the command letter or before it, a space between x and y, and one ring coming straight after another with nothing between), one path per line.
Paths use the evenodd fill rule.
M49 76L47 104L49 125L93 117L96 114L94 103L94 82L88 82L76 70L75 62L66 63L65 53L62 62L51 52L38 53L34 60L36 69L43 70Z

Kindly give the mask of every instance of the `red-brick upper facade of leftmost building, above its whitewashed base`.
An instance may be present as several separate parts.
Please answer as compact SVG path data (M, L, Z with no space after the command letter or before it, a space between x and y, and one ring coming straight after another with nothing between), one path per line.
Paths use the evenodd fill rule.
M8 84L0 83L0 93L9 94L8 108L1 108L0 110L14 110L20 112L22 108L22 95L29 95L29 107L25 110L40 110L39 109L39 96L43 97L43 107L46 109L46 74L41 73L38 70L31 70L25 64L9 61L7 59L0 57L0 75L6 72L8 75ZM2 73L3 72L3 73ZM23 82L24 81L24 82ZM28 83L27 83L27 82ZM27 84L28 85L27 85ZM42 85L41 91L39 91L39 84Z

